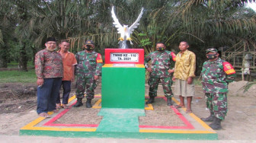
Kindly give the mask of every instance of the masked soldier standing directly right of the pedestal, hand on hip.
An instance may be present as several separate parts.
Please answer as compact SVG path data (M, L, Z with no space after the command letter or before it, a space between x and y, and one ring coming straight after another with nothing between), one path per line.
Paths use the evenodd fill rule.
M165 50L164 43L156 44L157 51L150 52L148 56L144 59L144 65L147 71L150 73L149 78L149 100L146 104L153 103L155 97L157 96L158 83L162 82L162 86L165 92L165 97L167 97L167 105L171 106L171 97L173 97L171 91L171 62L175 61L174 52ZM149 61L151 60L151 66L149 67Z

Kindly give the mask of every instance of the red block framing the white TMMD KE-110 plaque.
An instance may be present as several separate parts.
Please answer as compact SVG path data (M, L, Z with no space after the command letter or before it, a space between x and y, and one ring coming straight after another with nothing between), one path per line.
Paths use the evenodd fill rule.
M111 52L137 52L139 53L139 62L111 62ZM105 49L105 64L144 64L144 49Z

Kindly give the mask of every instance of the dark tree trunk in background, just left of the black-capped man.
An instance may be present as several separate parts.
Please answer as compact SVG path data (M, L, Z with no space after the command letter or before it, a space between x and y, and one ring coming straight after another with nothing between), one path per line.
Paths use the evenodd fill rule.
M26 43L21 43L18 70L27 71Z

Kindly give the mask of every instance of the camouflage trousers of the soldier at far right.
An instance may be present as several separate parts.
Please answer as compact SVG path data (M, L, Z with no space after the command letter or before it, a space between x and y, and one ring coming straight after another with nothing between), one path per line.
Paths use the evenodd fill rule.
M219 119L225 119L226 113L228 112L228 102L226 94L217 93L205 93L206 106Z

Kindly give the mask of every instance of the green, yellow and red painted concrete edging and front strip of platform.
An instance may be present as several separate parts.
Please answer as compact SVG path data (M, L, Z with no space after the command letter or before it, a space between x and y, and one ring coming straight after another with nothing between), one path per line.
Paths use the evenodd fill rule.
M101 97L101 95L95 95ZM146 97L148 98L148 97ZM166 100L164 96L158 96ZM178 100L172 98L178 104ZM69 105L76 102L75 96L69 99ZM101 98L94 103L93 108L101 108ZM154 104L149 104L145 110L154 110ZM69 112L60 110L50 113L51 118L38 117L33 122L20 129L20 135L46 135L69 138L147 138L176 140L216 140L216 132L206 125L194 113L185 113L186 108L175 109L170 106L183 126L143 126L139 125L139 116L146 116L144 110L136 109L101 109L98 116L104 116L99 125L95 124L57 124L56 119Z

